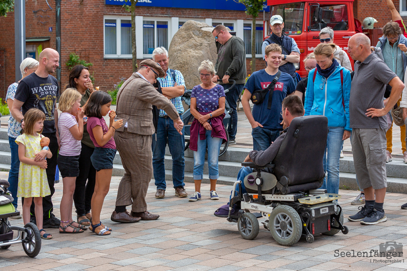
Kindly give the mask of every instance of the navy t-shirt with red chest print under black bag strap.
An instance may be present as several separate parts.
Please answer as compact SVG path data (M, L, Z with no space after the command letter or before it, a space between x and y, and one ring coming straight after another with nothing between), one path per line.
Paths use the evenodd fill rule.
M251 94L254 91L264 89L269 86L273 81L276 74L270 75L265 70L260 70L254 72L244 86ZM296 89L293 77L287 73L281 73L273 92L273 102L271 104L271 109L267 108L269 101L269 94L266 95L263 103L255 104L253 106L253 118L256 122L263 125L266 129L282 129L283 126L280 125L282 122L281 116L281 103L284 98L292 94Z

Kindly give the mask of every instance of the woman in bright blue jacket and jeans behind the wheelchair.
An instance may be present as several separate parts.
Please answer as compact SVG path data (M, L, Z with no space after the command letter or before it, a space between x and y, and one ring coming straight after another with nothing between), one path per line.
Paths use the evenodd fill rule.
M335 44L318 44L314 50L316 68L308 74L305 93L305 115L324 115L328 118L327 153L324 155L324 178L321 189L337 194L339 191L339 158L343 140L351 136L349 97L351 73L334 58Z

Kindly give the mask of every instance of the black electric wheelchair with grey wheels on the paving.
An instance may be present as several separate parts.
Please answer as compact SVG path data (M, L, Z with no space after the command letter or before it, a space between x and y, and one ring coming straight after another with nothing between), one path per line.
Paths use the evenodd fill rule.
M260 212L268 219L264 227L283 246L296 244L302 236L312 243L316 234L348 233L337 203L341 196L318 189L325 176L327 136L327 117L296 117L271 164L242 163L253 173L244 178L247 193L242 192L241 180L235 182L227 220L238 223L243 238L254 239L259 232L257 217L250 212ZM240 204L238 215L231 215L234 204Z

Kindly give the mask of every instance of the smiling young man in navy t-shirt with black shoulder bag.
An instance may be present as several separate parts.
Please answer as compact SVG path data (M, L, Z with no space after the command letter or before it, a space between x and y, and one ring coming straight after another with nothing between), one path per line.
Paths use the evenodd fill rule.
M265 50L265 60L267 68L254 72L244 86L245 92L242 97L243 110L252 127L253 149L266 150L271 143L280 135L283 130L281 103L287 95L295 92L293 77L282 72L274 87L271 109L268 109L269 94L264 98L263 103L253 106L253 113L250 109L250 97L254 91L266 88L278 73L281 63L281 47L278 44L270 44Z

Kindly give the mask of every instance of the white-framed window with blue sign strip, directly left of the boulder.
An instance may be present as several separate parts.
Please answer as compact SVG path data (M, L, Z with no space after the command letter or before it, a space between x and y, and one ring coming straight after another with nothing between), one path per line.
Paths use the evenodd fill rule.
M168 21L143 21L143 54L152 54L160 46L168 50Z

